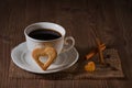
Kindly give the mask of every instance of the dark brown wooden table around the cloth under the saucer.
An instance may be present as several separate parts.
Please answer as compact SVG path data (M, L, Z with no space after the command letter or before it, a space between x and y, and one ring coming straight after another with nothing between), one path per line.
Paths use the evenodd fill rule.
M11 50L24 42L26 25L48 21L63 25L76 40L80 57L95 46L92 29L107 46L119 51L123 79L44 80L10 78ZM1 0L0 88L130 88L132 87L131 0Z

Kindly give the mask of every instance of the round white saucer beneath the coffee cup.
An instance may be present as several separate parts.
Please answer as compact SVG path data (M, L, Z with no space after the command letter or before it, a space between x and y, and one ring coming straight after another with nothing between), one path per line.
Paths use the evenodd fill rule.
M42 70L40 66L34 62L31 54L26 50L25 42L19 44L12 50L11 57L13 63L24 70L31 73L37 73L37 74L48 74L48 73L64 70L73 66L77 62L79 54L75 47L66 53L61 53L57 56L56 62L54 62L47 68L47 70Z

